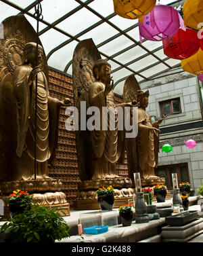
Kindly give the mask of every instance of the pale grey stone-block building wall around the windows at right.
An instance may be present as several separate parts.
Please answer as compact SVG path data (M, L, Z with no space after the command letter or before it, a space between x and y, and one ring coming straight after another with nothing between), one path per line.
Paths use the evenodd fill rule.
M168 82L166 82L168 81ZM202 122L202 111L196 76L181 73L181 75L168 75L153 82L141 84L143 90L150 91L148 113L160 117L159 102L172 98L180 98L182 113L171 115L162 122L161 128L168 128L180 124ZM188 149L184 141L194 139L197 145ZM170 153L162 153L165 143L173 146ZM168 164L187 163L191 187L196 189L203 184L203 128L178 130L160 134L160 154L158 166Z

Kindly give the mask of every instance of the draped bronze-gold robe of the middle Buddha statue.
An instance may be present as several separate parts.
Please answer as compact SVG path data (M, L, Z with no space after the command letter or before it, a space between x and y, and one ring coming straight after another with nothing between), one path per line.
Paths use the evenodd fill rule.
M116 177L115 163L124 159L124 130L118 130L118 113L114 102L114 93L111 91L106 97L105 86L101 82L91 83L89 86L89 105L98 107L100 112L100 129L93 130L93 151L95 170L92 179ZM102 107L112 107L114 114L108 115L108 120L102 115ZM109 109L109 111L112 111ZM114 118L114 119L112 119ZM110 130L110 121L114 122L115 129ZM102 130L102 122L108 122L108 129Z

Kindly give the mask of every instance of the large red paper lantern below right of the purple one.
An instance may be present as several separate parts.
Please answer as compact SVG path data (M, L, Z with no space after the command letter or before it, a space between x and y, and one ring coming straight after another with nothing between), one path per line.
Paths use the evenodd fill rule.
M183 60L196 54L200 49L200 39L194 29L179 29L173 37L163 40L164 54L169 58Z

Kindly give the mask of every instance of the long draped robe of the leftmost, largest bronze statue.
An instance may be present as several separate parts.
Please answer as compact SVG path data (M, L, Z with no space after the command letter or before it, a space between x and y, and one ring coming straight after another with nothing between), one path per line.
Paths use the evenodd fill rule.
M17 100L18 180L33 179L35 173L35 93L36 83L28 85L32 67L22 65L14 73L14 94ZM47 79L37 74L37 178L49 175L47 160L52 164L58 138L60 107L58 99L49 96Z

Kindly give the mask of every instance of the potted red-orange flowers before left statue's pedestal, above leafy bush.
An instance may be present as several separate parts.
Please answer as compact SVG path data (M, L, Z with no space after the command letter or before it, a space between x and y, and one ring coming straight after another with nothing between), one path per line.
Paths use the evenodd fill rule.
M22 213L24 208L32 203L33 195L28 194L27 191L13 191L12 194L9 195L9 213L11 218L13 218L16 214Z

